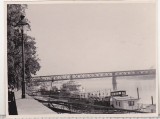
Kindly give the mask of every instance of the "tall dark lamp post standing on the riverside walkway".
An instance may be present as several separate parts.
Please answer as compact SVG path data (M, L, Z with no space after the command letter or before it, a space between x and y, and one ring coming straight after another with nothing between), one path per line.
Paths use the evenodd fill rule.
M22 98L26 98L26 80L25 80L25 53L24 53L24 37L23 37L23 28L25 25L29 24L24 21L25 16L20 16L20 21L16 24L16 26L20 27L21 35L22 35Z

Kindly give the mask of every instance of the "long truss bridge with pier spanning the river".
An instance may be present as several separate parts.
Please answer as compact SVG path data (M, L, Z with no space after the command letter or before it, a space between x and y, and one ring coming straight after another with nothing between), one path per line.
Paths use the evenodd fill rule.
M156 75L156 69L36 76L36 77L32 77L31 81L32 82L49 82L49 81L53 82L53 81L63 81L63 80L112 77L113 90L116 90L117 89L116 77L139 76L139 75Z

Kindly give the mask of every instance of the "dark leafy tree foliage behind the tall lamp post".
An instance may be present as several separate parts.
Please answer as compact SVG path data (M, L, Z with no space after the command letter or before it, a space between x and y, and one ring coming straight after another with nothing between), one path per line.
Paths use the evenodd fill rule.
M7 62L8 62L8 84L21 87L22 81L22 35L15 25L21 15L25 15L27 5L7 5ZM29 23L29 20L25 18ZM36 54L35 38L24 34L25 53L25 79L30 81L32 75L40 70L39 58Z

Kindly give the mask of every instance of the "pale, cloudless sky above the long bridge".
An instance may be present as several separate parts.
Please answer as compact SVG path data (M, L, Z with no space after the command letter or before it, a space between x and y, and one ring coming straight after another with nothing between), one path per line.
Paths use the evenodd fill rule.
M155 4L29 4L37 75L156 67Z

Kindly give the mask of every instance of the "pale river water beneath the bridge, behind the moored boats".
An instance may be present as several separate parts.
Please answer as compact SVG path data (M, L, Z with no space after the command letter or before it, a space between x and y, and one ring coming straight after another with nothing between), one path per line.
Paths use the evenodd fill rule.
M112 90L112 78L87 79L77 82L85 88L86 92ZM117 77L117 90L126 90L127 95L137 98L137 88L139 89L140 103L151 104L151 96L153 96L154 103L156 102L156 80L154 76Z

